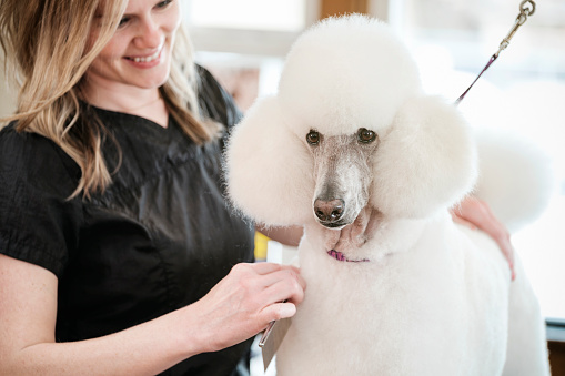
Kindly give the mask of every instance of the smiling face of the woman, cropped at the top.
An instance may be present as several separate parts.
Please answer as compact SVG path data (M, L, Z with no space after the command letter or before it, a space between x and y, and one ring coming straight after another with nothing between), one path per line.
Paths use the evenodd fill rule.
M180 0L129 0L120 27L87 71L87 85L157 89L169 78Z

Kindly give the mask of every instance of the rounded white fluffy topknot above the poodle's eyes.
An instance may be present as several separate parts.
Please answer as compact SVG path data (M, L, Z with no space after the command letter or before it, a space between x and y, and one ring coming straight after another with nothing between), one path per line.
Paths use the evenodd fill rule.
M361 14L331 18L300 37L279 87L295 134L386 130L421 84L416 64L385 23Z

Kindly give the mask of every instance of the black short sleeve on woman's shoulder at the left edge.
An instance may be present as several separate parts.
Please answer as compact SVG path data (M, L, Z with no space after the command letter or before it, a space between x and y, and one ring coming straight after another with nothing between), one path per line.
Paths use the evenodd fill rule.
M52 141L0 131L0 253L60 276L78 241L80 169Z

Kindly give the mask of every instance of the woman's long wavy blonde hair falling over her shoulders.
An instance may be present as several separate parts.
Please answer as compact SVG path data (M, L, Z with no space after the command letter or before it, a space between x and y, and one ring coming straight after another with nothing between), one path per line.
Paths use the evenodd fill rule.
M16 114L3 121L18 121L19 132L41 134L74 160L82 176L71 197L80 192L90 197L111 183L101 151L103 124L90 116L78 120L84 73L114 34L127 4L128 0L0 1L0 43L20 87ZM91 41L94 27L98 35ZM181 28L160 93L171 116L200 144L214 139L219 126L201 120L190 51Z

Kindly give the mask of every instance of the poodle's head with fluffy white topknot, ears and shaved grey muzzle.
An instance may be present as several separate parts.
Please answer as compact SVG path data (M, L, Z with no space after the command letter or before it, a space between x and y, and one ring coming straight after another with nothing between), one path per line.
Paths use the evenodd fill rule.
M291 49L275 95L258 100L230 138L228 192L266 225L353 223L363 209L425 217L473 185L468 128L422 94L417 68L391 29L330 18Z

